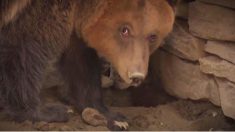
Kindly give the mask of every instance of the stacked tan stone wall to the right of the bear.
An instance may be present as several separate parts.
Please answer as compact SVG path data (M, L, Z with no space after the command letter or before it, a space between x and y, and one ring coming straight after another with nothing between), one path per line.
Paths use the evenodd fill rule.
M153 56L154 73L171 95L207 99L235 119L235 0L181 6L181 19Z

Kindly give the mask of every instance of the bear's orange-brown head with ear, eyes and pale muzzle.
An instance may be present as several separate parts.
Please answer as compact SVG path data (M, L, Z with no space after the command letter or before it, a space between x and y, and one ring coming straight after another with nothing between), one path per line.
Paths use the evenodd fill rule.
M149 57L171 31L174 11L166 0L107 0L102 14L82 30L88 45L128 84L146 77Z

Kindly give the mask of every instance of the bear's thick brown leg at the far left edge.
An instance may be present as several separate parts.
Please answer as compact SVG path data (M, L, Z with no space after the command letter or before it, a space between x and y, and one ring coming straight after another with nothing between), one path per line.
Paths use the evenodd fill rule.
M0 97L6 112L17 121L68 120L65 106L40 104L48 52L35 41L0 35Z

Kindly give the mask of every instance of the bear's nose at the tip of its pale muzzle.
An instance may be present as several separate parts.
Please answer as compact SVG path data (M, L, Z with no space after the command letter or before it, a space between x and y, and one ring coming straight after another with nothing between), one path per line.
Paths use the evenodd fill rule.
M143 82L145 75L143 73L134 72L134 73L129 73L128 77L131 80L131 85L136 87Z

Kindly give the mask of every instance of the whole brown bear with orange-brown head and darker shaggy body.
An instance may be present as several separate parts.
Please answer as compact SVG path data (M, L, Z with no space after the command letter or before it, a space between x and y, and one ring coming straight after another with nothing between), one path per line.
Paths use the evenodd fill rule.
M72 103L94 108L111 130L125 121L103 104L105 58L128 84L147 75L149 57L171 31L173 0L1 0L0 97L18 121L66 121L61 105L45 106L39 93L51 60L67 82Z

